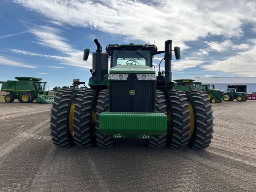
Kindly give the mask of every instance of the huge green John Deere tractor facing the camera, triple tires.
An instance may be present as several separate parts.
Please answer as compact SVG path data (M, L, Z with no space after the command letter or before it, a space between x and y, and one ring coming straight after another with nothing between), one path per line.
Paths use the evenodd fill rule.
M186 94L173 90L172 40L165 41L164 51L150 44L109 44L102 52L98 40L94 42L90 88L56 93L50 120L53 144L110 148L115 138L129 137L146 140L150 148L209 146L213 133L210 100L198 90ZM180 48L174 47L174 52L180 59ZM161 53L165 70L156 76L152 59ZM88 55L85 49L84 60Z

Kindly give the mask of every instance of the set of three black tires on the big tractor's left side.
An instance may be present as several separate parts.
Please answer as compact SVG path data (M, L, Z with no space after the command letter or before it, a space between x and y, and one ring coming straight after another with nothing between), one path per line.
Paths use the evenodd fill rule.
M101 134L99 118L101 112L108 111L108 90L99 92L86 89L60 90L54 97L51 108L50 130L53 144L67 148L76 145L90 148L97 144L99 148L110 148L113 141L110 135Z

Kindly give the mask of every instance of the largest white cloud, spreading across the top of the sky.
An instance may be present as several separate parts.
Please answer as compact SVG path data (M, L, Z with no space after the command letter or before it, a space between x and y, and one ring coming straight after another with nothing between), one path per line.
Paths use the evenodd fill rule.
M58 24L92 28L146 43L156 40L159 48L164 48L164 40L170 38L184 49L187 48L185 41L199 37L242 36L241 26L245 22L256 22L254 1L163 0L155 5L150 1L143 4L131 0L13 1ZM63 49L67 48L62 45Z

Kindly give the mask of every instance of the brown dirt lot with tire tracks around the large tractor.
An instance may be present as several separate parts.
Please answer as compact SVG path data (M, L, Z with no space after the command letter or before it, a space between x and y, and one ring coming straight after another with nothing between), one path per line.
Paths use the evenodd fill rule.
M0 192L255 192L256 101L214 104L205 150L56 148L51 105L0 103Z

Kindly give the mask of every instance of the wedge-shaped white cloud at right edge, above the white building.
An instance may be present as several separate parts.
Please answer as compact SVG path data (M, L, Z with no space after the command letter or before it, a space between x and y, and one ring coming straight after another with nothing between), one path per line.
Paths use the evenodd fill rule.
M253 44L249 50L240 51L235 56L229 57L226 60L216 61L201 67L208 71L234 73L240 76L256 76L256 40L251 42Z

